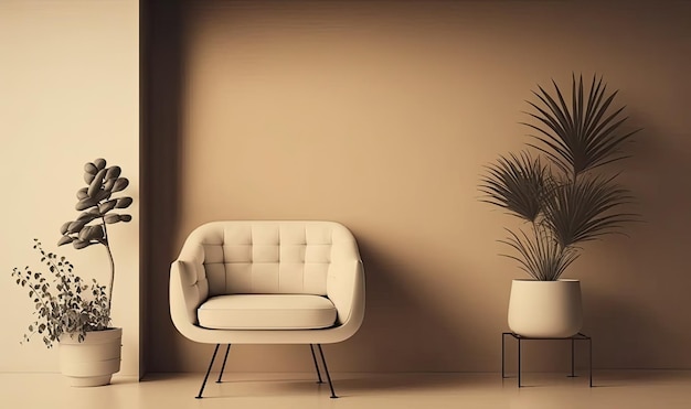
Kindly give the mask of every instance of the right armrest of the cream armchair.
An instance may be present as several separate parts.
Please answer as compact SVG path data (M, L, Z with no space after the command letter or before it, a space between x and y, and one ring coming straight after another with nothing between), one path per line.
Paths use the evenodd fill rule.
M327 277L327 297L338 312L337 323L354 334L364 319L364 268L360 259L332 262Z

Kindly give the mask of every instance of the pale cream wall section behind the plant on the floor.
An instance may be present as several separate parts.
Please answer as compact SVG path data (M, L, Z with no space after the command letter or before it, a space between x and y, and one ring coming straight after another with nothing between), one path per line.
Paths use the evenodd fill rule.
M124 327L120 376L139 375L138 1L0 1L0 372L56 372L57 352L19 341L33 305L10 277L40 267L34 237L84 278L107 283L98 247L56 247L78 215L85 162L98 157L129 177L134 222L110 233L118 276L114 324ZM132 297L134 295L134 297Z

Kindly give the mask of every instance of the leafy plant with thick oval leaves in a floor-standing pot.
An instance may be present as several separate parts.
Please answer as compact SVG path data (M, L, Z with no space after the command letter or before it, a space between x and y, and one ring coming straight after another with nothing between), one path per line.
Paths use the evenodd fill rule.
M38 239L34 249L47 272L30 267L14 268L12 272L17 283L29 290L36 310L38 317L29 325L24 341L38 334L49 348L57 342L61 372L74 386L107 385L120 368L123 330L111 326L115 261L108 238L109 225L131 220L130 215L116 212L132 204L129 196L114 196L129 185L120 172L119 166L107 168L104 159L85 164L87 186L77 191L75 206L82 213L62 225L57 243L73 244L76 249L103 245L110 263L109 286L96 280L86 282L74 273L74 266L65 257L45 251Z

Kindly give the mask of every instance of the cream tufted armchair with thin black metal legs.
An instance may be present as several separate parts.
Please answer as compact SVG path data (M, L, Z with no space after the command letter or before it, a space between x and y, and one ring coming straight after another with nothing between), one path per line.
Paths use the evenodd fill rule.
M170 268L170 313L185 337L215 344L321 344L352 336L364 316L364 271L353 235L333 222L212 222L194 229Z

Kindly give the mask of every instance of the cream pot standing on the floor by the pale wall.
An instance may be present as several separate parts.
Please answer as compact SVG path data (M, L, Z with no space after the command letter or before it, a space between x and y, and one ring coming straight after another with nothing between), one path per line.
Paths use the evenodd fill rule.
M110 384L120 370L123 329L87 332L84 341L60 337L60 370L71 386L103 386Z

